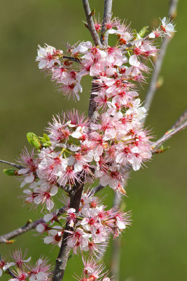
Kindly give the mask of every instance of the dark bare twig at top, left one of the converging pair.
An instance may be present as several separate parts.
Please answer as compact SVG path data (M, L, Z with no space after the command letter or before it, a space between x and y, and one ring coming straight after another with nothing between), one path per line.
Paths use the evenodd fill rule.
M85 11L85 17L88 23L88 30L90 30L90 34L92 35L92 39L94 41L95 46L99 46L100 48L102 48L102 44L99 39L99 34L95 30L94 21L92 18L92 12L90 11L89 1L88 0L82 0L82 1L83 1L83 8Z

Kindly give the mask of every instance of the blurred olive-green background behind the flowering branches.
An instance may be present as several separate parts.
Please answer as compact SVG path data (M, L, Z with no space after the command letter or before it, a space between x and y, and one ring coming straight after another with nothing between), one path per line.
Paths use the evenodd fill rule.
M103 0L90 0L102 18ZM167 15L167 0L113 0L113 16L127 19L136 30L145 25L157 26L158 18ZM186 27L187 1L179 0L174 39L169 44L162 67L163 86L158 89L146 126L155 138L162 136L186 110ZM50 79L45 78L35 63L37 45L47 43L56 48L65 44L90 40L84 27L82 1L78 0L1 0L0 11L0 79L1 79L1 145L0 159L15 162L25 145L26 133L41 135L52 115L76 107L87 112L90 81L83 81L81 100L75 105L64 100ZM140 91L144 100L147 86ZM118 281L187 280L186 224L186 136L182 131L167 141L171 148L154 155L147 168L130 175L124 202L132 210L133 225L123 234L120 279ZM1 164L0 235L40 214L22 207L20 183L3 174ZM109 190L106 204L111 207L113 192ZM13 249L29 249L29 256L41 254L55 261L59 249L43 244L34 231L18 237L14 244L1 244L1 254ZM105 256L110 268L111 248ZM64 280L81 272L77 256L71 258ZM74 274L75 275L75 274ZM2 277L7 280L7 277Z

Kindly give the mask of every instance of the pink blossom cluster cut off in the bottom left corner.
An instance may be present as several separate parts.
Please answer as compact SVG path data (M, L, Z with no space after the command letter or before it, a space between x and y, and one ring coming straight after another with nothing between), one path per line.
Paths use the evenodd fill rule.
M22 251L19 249L13 252L13 261L11 263L7 263L4 259L1 259L0 276L3 270L5 273L6 270L9 270L8 274L12 276L11 279L9 279L10 281L50 281L52 267L48 263L48 260L41 256L34 264L30 262L31 257L25 259L26 255L27 251L22 254Z

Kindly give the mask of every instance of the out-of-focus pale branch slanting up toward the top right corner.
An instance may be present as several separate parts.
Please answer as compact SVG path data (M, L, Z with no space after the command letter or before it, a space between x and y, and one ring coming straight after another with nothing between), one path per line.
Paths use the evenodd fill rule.
M179 0L170 1L169 13L168 13L169 18L174 18L174 14L176 12L176 6L178 4L178 1ZM155 91L157 89L156 84L157 84L157 81L158 81L158 76L160 74L163 59L165 57L165 53L167 51L167 46L169 44L170 39L171 39L171 37L164 37L164 39L162 41L162 44L161 44L161 48L160 48L160 55L155 62L155 68L153 70L153 74L152 74L152 77L151 77L151 83L150 83L150 86L148 88L148 92L146 94L145 107L146 107L147 110L150 109L153 97L155 96ZM145 117L145 119L146 119L146 117Z

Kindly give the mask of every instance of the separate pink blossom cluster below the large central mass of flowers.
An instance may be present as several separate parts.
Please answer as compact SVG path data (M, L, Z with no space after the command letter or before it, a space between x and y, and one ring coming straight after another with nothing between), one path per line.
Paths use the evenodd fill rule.
M61 226L61 219L67 221L68 230ZM59 224L54 225L55 222ZM123 213L116 207L106 210L92 192L84 192L78 213L74 208L67 207L63 216L57 216L57 212L46 214L36 230L48 233L44 238L46 244L57 244L59 247L65 231L68 233L67 244L73 248L74 254L79 250L97 255L99 247L106 244L109 234L115 238L129 225L129 212Z

